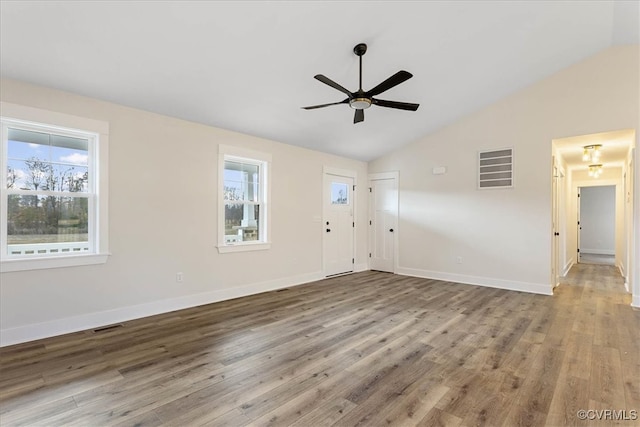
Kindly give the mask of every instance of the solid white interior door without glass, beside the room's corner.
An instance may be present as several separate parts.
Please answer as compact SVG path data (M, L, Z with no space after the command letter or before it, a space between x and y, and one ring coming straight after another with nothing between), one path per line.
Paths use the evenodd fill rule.
M370 179L369 185L370 268L394 273L398 232L397 178Z

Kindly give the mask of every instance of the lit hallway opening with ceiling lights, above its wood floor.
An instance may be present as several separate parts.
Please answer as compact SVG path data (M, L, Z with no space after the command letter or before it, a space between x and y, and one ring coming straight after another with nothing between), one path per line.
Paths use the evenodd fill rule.
M638 268L633 256L633 230L638 226L633 201L635 144L634 129L552 141L554 284L562 283L577 264L608 264L625 279L626 292L632 293L630 283ZM593 173L594 169L601 173ZM640 291L633 292L638 298L635 292Z

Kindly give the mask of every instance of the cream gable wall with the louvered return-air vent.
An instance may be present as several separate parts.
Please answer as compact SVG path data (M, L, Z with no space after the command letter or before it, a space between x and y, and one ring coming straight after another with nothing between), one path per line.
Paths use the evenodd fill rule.
M638 64L638 46L607 49L371 162L400 174L398 271L551 293L551 141L638 129ZM501 147L515 188L477 190L478 150Z

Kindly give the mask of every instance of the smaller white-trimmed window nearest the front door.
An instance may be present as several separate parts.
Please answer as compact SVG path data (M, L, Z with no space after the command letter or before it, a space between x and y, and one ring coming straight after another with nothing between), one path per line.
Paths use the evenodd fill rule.
M269 248L268 154L220 146L218 250Z

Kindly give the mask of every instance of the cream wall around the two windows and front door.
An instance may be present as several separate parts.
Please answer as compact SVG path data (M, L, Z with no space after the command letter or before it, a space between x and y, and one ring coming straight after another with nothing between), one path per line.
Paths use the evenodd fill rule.
M13 80L1 88L5 102L109 122L112 253L105 265L2 273L3 345L318 279L323 167L367 185L363 162ZM216 249L219 144L272 155L270 250ZM365 194L356 212L366 269Z

